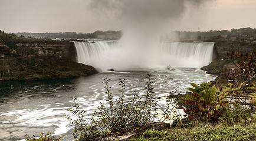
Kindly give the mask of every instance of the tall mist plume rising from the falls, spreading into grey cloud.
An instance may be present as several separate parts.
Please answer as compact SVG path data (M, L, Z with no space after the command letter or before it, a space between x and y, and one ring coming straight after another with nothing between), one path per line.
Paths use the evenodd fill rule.
M92 0L89 8L97 17L119 19L116 21L124 27L122 49L114 51L119 57L113 59L115 55L111 55L109 62L145 68L163 61L157 49L160 35L172 29L186 12L209 1L212 0Z

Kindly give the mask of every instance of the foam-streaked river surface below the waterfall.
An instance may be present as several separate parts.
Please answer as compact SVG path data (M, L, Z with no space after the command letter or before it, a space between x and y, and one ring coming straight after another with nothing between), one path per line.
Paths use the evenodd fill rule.
M134 90L143 95L147 73L152 75L159 109L165 108L163 94L173 92L175 87L179 87L178 93L185 93L191 82L200 84L216 78L200 69L150 68L103 72L73 79L0 81L0 140L22 140L26 133L39 136L40 132L48 131L57 137L63 136L61 140L74 140L73 130L65 118L65 115L71 115L67 110L74 105L71 97L76 96L80 107L90 115L100 102L106 102L103 78L111 79L113 96L120 96L119 79L127 79L126 95L129 98Z

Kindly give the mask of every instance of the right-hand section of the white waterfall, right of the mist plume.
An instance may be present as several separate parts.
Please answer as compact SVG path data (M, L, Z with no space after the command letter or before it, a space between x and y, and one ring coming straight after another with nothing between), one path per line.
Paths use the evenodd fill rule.
M159 48L170 65L201 68L212 62L214 42L161 42Z

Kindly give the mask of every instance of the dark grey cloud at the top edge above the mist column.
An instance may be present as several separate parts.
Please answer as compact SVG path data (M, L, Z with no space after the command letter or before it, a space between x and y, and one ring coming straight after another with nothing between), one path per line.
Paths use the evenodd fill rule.
M214 0L93 0L89 6L93 11L111 12L117 17L125 16L134 20L166 19L181 16L186 10L186 4L200 6L208 1Z

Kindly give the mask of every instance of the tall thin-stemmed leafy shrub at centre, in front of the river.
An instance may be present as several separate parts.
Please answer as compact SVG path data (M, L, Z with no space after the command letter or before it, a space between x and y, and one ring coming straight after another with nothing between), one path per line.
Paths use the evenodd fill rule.
M111 93L111 87L109 86L110 79L103 79L106 83L104 87L107 93L107 104L99 106L100 114L97 116L99 118L99 124L104 130L109 130L110 132L128 129L132 126L145 125L151 123L156 117L156 99L153 95L153 87L150 75L147 76L148 82L146 83L146 93L143 96L139 96L137 92L133 92L134 97L132 99L125 98L125 80L120 80L119 84L122 86L121 96L114 99ZM155 110L155 113L152 111Z

